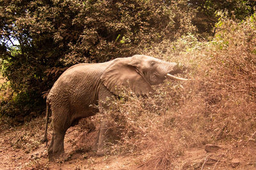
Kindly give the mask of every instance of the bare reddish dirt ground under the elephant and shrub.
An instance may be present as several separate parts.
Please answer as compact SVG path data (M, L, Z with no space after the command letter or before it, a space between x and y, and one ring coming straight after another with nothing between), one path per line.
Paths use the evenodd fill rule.
M97 157L90 149L96 131L84 132L81 126L71 127L65 136L65 162L49 162L47 147L40 142L44 134L44 118L35 118L23 125L0 125L0 169L154 169L147 162L150 151L132 155ZM49 129L48 139L51 137ZM239 145L220 145L216 152L205 147L186 149L172 162L173 169L256 169L256 142L248 139ZM157 167L156 167L157 169Z

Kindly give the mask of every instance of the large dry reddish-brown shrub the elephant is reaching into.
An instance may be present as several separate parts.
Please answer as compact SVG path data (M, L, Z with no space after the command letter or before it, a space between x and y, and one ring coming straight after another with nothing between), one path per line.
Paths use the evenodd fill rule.
M108 118L116 136L108 143L111 153L147 150L152 156L145 166L167 169L186 148L246 145L256 131L255 20L223 20L211 41L188 35L143 50L189 66L182 76L194 80L167 82L148 97L124 94L111 104Z

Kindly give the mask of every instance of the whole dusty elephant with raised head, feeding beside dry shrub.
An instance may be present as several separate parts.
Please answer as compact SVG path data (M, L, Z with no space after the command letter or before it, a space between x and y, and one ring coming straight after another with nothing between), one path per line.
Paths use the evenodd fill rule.
M49 112L52 113L49 159L58 159L64 153L67 129L78 124L81 118L91 117L107 108L106 100L118 96L118 89L125 87L134 94L147 96L153 91L152 85L163 83L166 78L188 80L172 75L180 71L176 62L165 62L147 55L133 55L108 62L83 63L69 67L54 83L46 99L43 141L47 141ZM100 124L97 155L102 152L102 126L104 123Z

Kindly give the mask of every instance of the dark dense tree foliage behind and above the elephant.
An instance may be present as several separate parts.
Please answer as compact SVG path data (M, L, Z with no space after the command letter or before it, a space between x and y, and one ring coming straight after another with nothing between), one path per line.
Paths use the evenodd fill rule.
M196 30L213 32L216 11L239 19L253 13L255 2L232 2L2 0L1 74L13 91L2 97L1 115L41 113L42 92L72 64L131 56Z

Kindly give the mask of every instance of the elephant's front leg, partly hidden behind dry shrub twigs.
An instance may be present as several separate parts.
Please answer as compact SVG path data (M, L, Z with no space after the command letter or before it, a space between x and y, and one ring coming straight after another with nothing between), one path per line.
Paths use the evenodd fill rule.
M113 94L102 85L99 90L99 109L100 113L104 114L105 110L108 110L108 102L113 98ZM95 150L97 150L96 154L99 156L105 155L106 150L104 149L104 139L106 137L106 133L108 131L108 121L106 118L100 122L99 133L95 142Z

